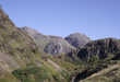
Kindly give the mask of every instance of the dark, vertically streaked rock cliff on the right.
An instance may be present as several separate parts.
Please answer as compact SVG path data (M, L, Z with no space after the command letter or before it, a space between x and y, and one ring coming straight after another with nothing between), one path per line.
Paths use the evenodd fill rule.
M88 60L93 57L105 59L117 55L120 51L120 40L116 38L105 38L93 40L80 49L77 57L82 60Z

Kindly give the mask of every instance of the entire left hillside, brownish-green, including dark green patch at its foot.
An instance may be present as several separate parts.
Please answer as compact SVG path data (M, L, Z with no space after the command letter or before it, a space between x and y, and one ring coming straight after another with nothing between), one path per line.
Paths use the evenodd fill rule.
M41 59L26 33L0 9L0 82L67 82L65 74Z

